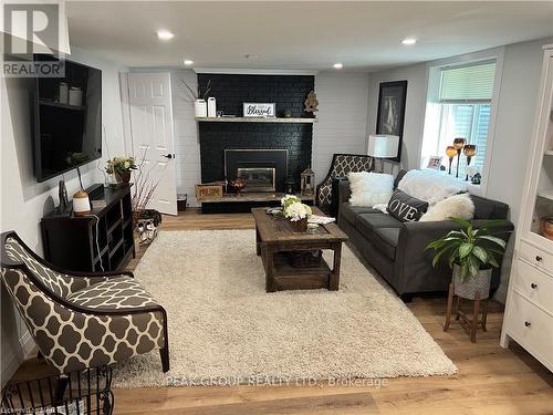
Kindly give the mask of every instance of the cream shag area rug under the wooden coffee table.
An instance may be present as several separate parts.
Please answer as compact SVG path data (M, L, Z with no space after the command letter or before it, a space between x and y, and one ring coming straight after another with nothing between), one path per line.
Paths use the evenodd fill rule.
M170 371L157 352L136 356L115 369L117 387L457 372L346 246L340 291L267 293L253 230L161 231L135 277L167 310Z

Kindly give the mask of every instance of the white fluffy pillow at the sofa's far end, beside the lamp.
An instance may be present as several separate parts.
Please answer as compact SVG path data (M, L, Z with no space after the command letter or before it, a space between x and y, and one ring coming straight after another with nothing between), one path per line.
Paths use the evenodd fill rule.
M380 173L349 173L349 205L373 207L387 204L394 193L394 176Z

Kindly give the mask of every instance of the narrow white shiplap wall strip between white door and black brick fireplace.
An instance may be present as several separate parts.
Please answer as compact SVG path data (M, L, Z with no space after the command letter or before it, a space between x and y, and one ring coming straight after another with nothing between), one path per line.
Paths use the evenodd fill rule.
M182 82L196 91L198 85L196 72L171 71L177 193L187 194L188 204L196 206L194 186L201 181L200 145L197 123L194 120L194 98Z

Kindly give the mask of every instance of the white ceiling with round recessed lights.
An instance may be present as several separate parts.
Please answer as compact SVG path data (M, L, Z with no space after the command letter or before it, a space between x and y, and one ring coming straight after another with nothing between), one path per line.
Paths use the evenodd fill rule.
M377 71L553 37L553 2L67 1L71 44L128 66ZM161 42L156 31L175 34ZM405 46L400 41L415 37ZM246 54L259 54L246 59Z

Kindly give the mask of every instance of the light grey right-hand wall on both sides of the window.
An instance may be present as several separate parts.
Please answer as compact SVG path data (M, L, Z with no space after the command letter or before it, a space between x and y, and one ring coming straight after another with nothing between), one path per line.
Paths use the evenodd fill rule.
M504 46L489 181L483 196L509 204L511 220L515 225L532 139L542 45L552 42L550 38ZM401 164L404 168L418 168L428 84L426 63L369 74L368 126L373 132L376 125L378 84L401 80L408 81ZM501 286L495 294L500 301L504 301L507 294L508 268L502 272Z

